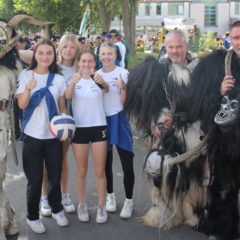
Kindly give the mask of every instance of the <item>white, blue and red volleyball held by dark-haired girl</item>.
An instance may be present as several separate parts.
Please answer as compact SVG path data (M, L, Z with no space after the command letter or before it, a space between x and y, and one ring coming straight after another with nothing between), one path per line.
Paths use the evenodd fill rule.
M73 138L76 130L75 121L72 116L61 114L52 118L50 131L55 138L64 141Z

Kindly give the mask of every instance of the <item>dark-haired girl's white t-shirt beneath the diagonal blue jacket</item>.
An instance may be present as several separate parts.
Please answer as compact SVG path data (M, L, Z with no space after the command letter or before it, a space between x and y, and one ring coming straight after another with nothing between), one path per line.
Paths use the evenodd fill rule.
M31 96L37 90L46 87L48 73L47 74L34 73L34 77L37 81L37 86L34 89L32 89ZM18 76L19 86L17 88L16 95L24 92L27 83L28 81L30 81L31 78L32 78L31 70L23 70L19 74ZM58 99L59 97L64 95L64 92L66 90L64 77L60 74L55 74L52 84L49 86L48 89L51 92L55 100L57 109L59 111ZM45 98L43 98L40 104L34 109L33 114L24 129L24 133L38 139L54 138L49 130L48 108Z

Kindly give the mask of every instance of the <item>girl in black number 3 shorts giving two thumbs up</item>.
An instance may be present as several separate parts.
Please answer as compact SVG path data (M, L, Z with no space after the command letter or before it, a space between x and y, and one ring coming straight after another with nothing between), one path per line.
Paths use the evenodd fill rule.
M86 177L91 146L98 192L96 222L104 223L108 216L105 208L107 122L103 108L103 92L108 90L108 85L101 76L92 75L95 64L96 59L93 53L89 51L81 53L78 62L79 70L68 84L65 97L72 99L73 117L77 126L72 145L77 164L78 218L82 222L89 221Z

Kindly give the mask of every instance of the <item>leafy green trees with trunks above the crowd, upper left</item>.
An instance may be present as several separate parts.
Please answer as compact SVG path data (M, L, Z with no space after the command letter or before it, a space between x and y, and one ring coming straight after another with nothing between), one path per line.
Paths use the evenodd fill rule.
M123 17L123 30L130 55L135 51L135 18L137 0L0 0L0 14L10 19L15 14L28 14L54 23L52 32L78 33L86 6L89 4L90 32L108 32L111 21ZM29 26L28 26L29 28Z

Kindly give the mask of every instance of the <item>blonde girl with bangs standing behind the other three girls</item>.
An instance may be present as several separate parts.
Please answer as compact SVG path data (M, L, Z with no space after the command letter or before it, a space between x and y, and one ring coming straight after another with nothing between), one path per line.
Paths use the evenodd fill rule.
M60 39L58 45L58 65L61 68L61 73L63 74L66 84L70 82L72 76L76 70L77 61L79 56L79 45L78 39L75 34L67 33L63 35ZM67 102L68 114L70 113L70 102ZM69 166L67 159L67 152L69 149L69 142L63 142L63 165L62 165L62 176L61 176L61 191L62 191L62 204L65 212L73 213L75 212L75 206L70 199L70 194L68 192L68 178L69 178ZM42 187L42 197L41 197L41 214L43 216L51 216L51 208L47 200L47 177L46 171L44 173L44 181Z

